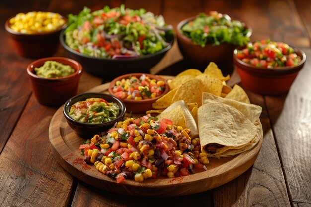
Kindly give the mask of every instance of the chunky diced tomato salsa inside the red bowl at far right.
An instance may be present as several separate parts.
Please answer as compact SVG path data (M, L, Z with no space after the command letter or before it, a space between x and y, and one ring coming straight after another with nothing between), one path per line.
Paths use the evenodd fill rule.
M237 51L236 57L250 65L264 68L296 66L301 62L300 56L288 44L270 39L248 43L245 49Z

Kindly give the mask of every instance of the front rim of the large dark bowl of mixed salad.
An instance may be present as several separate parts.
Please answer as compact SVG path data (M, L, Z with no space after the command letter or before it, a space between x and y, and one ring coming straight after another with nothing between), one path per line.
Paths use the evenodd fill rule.
M71 49L66 43L65 43L65 40L64 40L64 32L65 30L61 31L60 33L60 36L59 36L59 39L60 39L60 43L61 45L68 51L68 52L71 52L75 55L78 55L78 56L81 56L83 58L90 58L90 59L94 59L94 60L104 60L104 61L121 61L121 62L131 62L131 61L137 61L137 60L144 60L144 59L148 59L150 57L153 57L153 56L156 56L156 55L159 55L159 54L162 54L162 53L166 53L168 50L170 50L174 44L174 41L175 41L175 35L174 33L172 34L172 40L170 41L170 45L167 46L166 48L156 52L156 53L153 53L153 54L148 54L148 55L143 55L143 56L138 56L138 57L133 57L133 58L125 58L125 59L111 59L111 58L99 58L99 57L94 57L94 56L89 56L89 55L86 55L84 53L80 53L78 51L75 51L73 49Z

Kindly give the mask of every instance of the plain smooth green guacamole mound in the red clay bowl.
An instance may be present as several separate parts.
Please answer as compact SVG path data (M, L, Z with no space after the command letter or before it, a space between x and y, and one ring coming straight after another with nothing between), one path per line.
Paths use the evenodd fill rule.
M36 75L45 78L66 77L75 73L75 69L56 61L46 61L43 66L35 68Z

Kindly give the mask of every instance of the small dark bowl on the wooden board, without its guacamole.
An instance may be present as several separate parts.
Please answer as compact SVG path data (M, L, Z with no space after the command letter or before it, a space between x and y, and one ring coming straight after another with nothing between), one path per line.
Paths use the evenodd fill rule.
M111 120L110 122L105 122L101 124L81 123L74 120L68 114L71 106L76 102L84 101L87 98L102 98L108 102L116 103L120 109L118 117L114 120ZM92 138L95 134L100 134L101 132L110 129L111 127L114 126L116 122L120 121L123 118L125 110L126 110L125 105L120 99L104 93L83 93L76 95L70 98L68 101L66 101L63 107L63 113L68 125L75 131L75 133L77 133L82 138Z

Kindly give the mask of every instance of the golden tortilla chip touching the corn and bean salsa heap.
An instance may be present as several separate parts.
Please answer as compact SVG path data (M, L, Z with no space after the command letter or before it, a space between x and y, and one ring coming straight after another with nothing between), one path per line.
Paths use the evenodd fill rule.
M163 111L161 114L157 115L159 120L166 118L173 122L174 125L182 126L186 128L186 118L182 112L181 106L173 107L171 110Z

